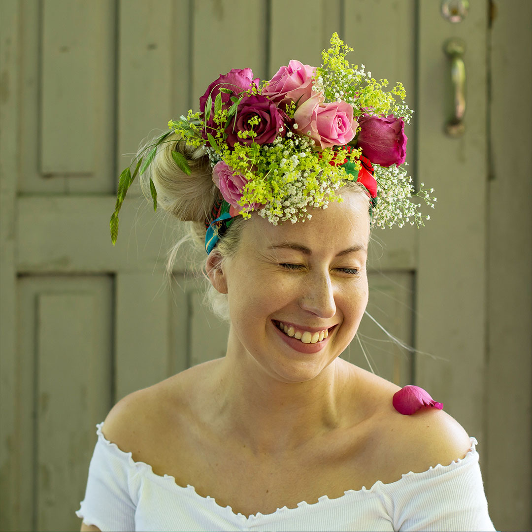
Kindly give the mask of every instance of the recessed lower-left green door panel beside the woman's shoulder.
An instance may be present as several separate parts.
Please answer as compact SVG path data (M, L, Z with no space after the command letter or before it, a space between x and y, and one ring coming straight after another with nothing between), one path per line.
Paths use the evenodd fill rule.
M19 279L20 530L79 527L72 508L112 405L112 293L105 275Z

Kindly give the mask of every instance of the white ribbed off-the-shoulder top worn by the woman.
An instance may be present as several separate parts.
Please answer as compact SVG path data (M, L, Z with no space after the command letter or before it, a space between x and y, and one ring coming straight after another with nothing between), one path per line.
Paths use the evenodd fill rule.
M257 513L248 518L214 498L182 487L150 465L134 462L102 434L90 461L85 499L76 515L103 532L111 530L490 530L493 523L480 468L477 440L462 460L371 488L352 489L341 497L320 497L297 508Z

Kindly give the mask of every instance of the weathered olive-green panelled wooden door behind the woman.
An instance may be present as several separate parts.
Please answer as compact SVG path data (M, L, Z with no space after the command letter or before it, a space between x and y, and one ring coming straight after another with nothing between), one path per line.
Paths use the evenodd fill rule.
M522 18L506 7L511 3L500 6L504 29L493 41L491 4L470 4L463 22L451 24L439 2L425 0L0 3L0 529L78 529L73 512L84 494L95 424L124 395L224 352L227 326L202 306L201 280L186 275L183 257L165 281L165 252L180 228L154 216L137 189L124 203L112 247L118 172L152 128L165 129L196 107L220 73L250 66L264 79L292 58L317 64L333 31L354 48L352 61L376 78L404 83L416 111L407 132L412 175L438 198L424 229L376 229L369 258L368 312L420 352L390 342L364 318L343 356L401 386L419 384L443 402L487 457L496 527L532 525L530 430L516 452L528 458L500 467L501 430L522 423L504 410L490 417L505 394L530 404L530 383L523 381L521 395L493 390L505 366L487 359L501 319L488 303L502 297L489 288L497 275L491 231L500 227L490 194L506 190L503 172L488 180L494 166L487 124L499 117L489 107L489 69L506 65L501 57L492 61L488 43L503 46L517 24L515 46L525 49L530 4L514 3ZM451 36L467 45L460 138L445 133L452 89L442 46ZM531 64L529 55L524 61ZM519 82L520 94L529 95L529 77ZM530 113L530 104L522 105ZM529 175L527 161L518 176ZM519 212L527 223L529 205ZM530 244L522 246L516 276L530 267ZM509 290L521 296L519 286ZM518 332L512 338L521 338L512 349L526 375L529 340ZM504 382L513 378L510 372ZM526 419L529 426L529 411Z

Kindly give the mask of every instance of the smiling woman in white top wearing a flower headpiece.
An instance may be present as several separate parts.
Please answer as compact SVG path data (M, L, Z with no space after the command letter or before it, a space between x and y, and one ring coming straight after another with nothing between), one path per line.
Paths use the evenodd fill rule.
M402 124L360 112L363 84L335 99L361 72L347 51L334 35L320 69L290 61L261 88L249 69L221 76L137 164L205 242L227 353L114 406L81 530L494 530L475 439L424 390L339 358L368 301L370 227L411 208L385 194Z

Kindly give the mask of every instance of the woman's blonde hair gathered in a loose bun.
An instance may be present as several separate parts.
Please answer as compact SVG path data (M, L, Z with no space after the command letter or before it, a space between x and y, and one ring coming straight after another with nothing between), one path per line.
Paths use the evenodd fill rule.
M153 144L153 140L142 146L139 154L146 146ZM173 160L172 151L178 151L186 157L192 172L188 176ZM140 176L140 186L149 202L152 202L149 192L149 180L153 181L157 190L157 205L165 212L180 221L188 223L187 233L172 246L168 254L167 274L172 276L173 265L182 249L182 245L190 242L193 253L187 257L189 269L194 273L201 273L207 278L204 271L205 265L205 220L210 219L215 202L220 197L220 190L212 180L212 167L203 147L192 147L177 134L170 134L161 145L157 147L154 160L147 170ZM363 195L368 204L369 197L365 188L358 182L345 181L343 190ZM242 217L234 219L218 241L211 253L219 253L223 261L238 251L243 224ZM203 259L197 259L197 252L203 252ZM201 255L200 255L201 256ZM210 282L207 284L205 301L211 310L223 321L229 321L229 308L227 294L220 294Z

